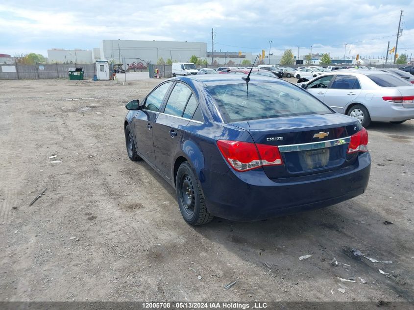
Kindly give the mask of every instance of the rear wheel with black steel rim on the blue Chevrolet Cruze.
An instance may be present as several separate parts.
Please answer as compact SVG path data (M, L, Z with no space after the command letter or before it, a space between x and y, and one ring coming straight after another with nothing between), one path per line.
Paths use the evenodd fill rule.
M175 179L178 206L184 220L190 225L207 224L213 219L205 205L201 186L194 168L184 162L178 167Z

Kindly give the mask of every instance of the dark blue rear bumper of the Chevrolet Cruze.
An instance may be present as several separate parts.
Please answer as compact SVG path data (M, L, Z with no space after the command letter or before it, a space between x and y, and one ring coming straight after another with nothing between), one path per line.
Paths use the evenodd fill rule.
M213 215L253 221L337 204L364 193L370 171L369 153L336 171L270 180L262 169L222 174L201 170L206 206Z

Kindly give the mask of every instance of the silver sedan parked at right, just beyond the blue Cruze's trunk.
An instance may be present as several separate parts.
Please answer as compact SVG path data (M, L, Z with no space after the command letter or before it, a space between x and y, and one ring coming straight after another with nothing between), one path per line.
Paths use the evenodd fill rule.
M336 70L297 85L364 127L414 119L414 85L387 72Z

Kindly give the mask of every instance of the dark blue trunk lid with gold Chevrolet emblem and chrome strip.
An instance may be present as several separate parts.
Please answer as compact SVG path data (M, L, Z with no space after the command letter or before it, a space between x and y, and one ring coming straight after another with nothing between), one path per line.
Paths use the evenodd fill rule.
M361 129L357 120L341 114L257 119L232 124L247 130L255 143L279 147L283 165L263 167L270 179L314 174L349 165L349 137Z

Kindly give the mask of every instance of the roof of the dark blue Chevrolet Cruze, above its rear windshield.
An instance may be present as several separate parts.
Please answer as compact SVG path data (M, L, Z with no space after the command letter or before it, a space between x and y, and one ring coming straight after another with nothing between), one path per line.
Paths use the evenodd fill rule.
M181 80L183 82L194 81L205 84L206 86L215 86L223 84L239 84L245 83L242 77L238 74L200 74L200 75L188 75L174 77L172 80ZM275 79L273 77L265 75L250 75L250 82L277 82L277 83L289 83L282 79Z

